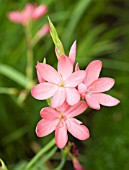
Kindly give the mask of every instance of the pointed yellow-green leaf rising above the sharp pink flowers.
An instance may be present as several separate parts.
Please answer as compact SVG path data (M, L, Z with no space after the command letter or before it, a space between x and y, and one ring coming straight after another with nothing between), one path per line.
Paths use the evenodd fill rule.
M61 55L64 54L64 47L58 37L58 34L57 34L57 31L56 31L56 28L54 27L53 23L51 22L50 18L48 17L48 21L49 21L49 25L50 25L50 34L51 34L51 37L52 37L52 40L57 48L57 50L59 51L59 53Z

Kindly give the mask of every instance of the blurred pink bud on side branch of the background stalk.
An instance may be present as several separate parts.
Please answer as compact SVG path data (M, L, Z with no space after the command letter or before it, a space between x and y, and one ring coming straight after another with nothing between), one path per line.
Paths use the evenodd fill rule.
M40 37L45 36L49 32L50 32L50 26L49 24L46 24L37 32L37 36L40 38Z

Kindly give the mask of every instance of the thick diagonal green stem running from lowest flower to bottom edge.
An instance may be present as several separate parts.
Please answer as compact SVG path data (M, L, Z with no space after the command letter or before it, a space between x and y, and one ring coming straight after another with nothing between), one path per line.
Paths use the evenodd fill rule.
M52 146L55 145L55 139L52 139L46 146L44 146L38 154L35 155L35 157L27 164L26 170L29 170L33 164L36 163L36 161L44 154L46 153Z

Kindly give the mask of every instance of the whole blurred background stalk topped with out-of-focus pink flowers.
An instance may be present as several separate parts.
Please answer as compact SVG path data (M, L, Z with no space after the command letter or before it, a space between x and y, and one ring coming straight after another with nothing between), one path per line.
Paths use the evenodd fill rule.
M36 21L43 17L47 12L47 6L46 5L39 5L36 6L35 4L28 3L25 5L24 9L21 11L11 11L8 13L8 18L10 21L21 24L25 31L25 37L26 37L26 45L27 45L27 57L26 57L26 90L24 90L24 96L23 92L20 92L18 101L19 103L23 103L23 101L26 99L28 94L30 93L30 89L35 84L33 81L33 48L34 45L46 34L49 33L49 25L43 25L37 33L32 36L32 30L31 26L33 24L33 21Z

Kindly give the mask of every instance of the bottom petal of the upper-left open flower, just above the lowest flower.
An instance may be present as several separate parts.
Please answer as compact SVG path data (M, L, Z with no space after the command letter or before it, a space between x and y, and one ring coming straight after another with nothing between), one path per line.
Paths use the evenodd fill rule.
M65 99L66 99L65 89L59 87L51 100L51 106L53 108L59 107L64 103Z

